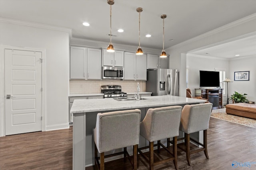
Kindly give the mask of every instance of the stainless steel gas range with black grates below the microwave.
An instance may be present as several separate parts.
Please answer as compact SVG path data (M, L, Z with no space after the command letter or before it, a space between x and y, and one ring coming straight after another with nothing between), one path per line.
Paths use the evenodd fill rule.
M122 92L122 88L119 85L101 86L101 93L104 94L104 98L114 98L114 99L127 98L127 94L125 92Z

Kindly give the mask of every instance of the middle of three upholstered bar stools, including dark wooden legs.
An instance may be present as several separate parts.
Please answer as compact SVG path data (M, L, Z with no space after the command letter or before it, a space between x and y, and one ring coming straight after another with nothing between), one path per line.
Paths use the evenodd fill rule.
M174 166L178 169L177 164L177 136L179 135L181 106L169 106L160 107L155 109L148 109L145 118L140 123L140 135L149 141L149 147L139 148L138 152L149 162L149 169L153 170L154 165L161 164L173 160ZM170 138L173 137L173 152L170 152ZM168 139L167 146L165 147L160 143L161 139ZM157 144L154 145L154 141ZM160 146L162 146L167 152L172 154L172 157L164 160L154 162L154 146L158 146L158 153L160 152ZM142 149L149 148L149 158L147 158Z

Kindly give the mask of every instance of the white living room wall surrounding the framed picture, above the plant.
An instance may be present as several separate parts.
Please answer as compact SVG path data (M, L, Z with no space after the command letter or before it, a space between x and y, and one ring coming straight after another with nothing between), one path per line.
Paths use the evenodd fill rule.
M256 56L230 60L229 68L229 76L233 81L228 84L229 94L234 91L245 93L249 101L256 102ZM250 71L249 81L234 81L234 72L237 71Z

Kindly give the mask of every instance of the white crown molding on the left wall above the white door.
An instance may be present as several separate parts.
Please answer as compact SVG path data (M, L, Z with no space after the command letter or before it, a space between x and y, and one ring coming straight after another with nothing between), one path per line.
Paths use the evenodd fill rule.
M36 27L36 28L42 28L42 29L50 29L50 30L54 30L54 31L67 32L69 35L69 38L72 37L72 29L70 29L70 28L57 27L57 26L53 26L53 25L46 25L46 24L42 24L42 23L34 23L34 22L21 21L21 20L13 20L10 18L2 18L2 17L0 17L0 22L10 23L10 24L15 24L15 25L23 25L23 26L28 26L28 27Z

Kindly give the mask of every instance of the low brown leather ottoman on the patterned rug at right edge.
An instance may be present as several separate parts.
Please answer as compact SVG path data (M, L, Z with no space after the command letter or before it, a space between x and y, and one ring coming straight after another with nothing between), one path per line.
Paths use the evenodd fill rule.
M236 103L227 104L226 113L256 119L256 104Z

